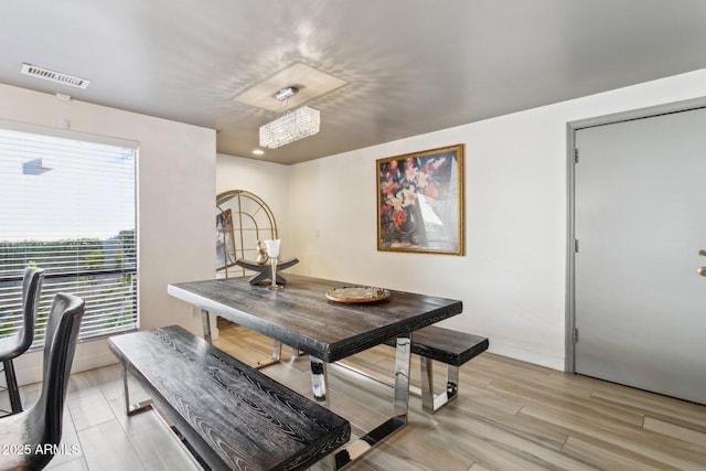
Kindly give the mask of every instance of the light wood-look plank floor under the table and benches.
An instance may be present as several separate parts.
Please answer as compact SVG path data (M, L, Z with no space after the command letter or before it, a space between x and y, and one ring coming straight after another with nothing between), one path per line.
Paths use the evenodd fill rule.
M271 353L271 341L237 325L222 324L216 345L249 364ZM376 347L351 363L389 375L394 351ZM263 372L309 395L308 366L285 347L282 363ZM385 385L335 366L329 382L332 408L356 436L392 411ZM39 390L22 387L25 404ZM126 418L117 365L72 375L67 406L64 445L78 452L56 457L53 470L197 469L154 413ZM706 407L486 352L461 367L457 400L427 415L411 397L409 425L350 469L706 470Z

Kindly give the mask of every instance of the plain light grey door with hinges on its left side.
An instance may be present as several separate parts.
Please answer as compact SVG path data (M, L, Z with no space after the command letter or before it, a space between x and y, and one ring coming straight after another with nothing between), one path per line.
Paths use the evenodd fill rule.
M706 109L575 139L575 371L706 404Z

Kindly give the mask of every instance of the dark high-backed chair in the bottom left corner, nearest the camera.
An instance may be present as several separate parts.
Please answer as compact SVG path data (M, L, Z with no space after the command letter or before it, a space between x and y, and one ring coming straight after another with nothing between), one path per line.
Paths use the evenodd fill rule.
M60 292L54 297L44 336L42 394L26 410L0 419L0 470L41 470L61 450L64 399L84 314L84 300ZM14 452L12 452L14 451Z

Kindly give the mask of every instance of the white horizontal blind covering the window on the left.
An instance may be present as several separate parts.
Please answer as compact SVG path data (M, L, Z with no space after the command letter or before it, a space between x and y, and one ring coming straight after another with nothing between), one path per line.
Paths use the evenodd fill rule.
M86 301L79 339L137 328L137 149L0 129L0 338L22 276L45 269L34 345L58 291Z

